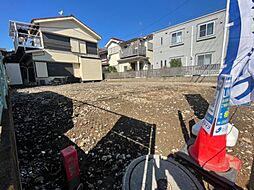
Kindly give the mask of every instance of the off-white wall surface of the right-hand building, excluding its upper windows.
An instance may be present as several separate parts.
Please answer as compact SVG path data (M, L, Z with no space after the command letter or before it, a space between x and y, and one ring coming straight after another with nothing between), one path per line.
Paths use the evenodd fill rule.
M198 26L210 21L215 22L214 36L199 40ZM220 63L224 26L225 10L222 10L155 32L153 43L153 68L161 68L161 61L164 65L165 60L169 67L169 62L173 58L181 58L183 66L196 65L197 56L205 53L212 54L212 64ZM183 32L183 43L172 46L171 34L177 31ZM161 37L163 38L163 45L161 45Z

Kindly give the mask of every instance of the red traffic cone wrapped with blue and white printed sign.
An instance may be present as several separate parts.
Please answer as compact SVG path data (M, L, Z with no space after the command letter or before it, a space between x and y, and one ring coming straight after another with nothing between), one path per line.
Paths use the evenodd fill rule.
M202 167L226 172L230 167L240 170L241 161L226 154L226 133L229 122L230 75L221 75L216 96L210 104L198 137L188 148L189 155Z

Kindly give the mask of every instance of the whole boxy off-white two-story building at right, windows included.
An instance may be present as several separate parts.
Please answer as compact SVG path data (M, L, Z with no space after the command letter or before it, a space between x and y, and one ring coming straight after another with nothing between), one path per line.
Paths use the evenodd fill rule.
M153 68L220 64L222 58L225 10L220 10L154 33Z

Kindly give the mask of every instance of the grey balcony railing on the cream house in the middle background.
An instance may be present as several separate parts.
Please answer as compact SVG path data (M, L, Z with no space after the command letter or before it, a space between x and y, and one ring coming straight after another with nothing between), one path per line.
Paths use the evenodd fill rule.
M134 56L146 56L145 46L129 46L127 48L122 48L120 51L120 59L134 57Z

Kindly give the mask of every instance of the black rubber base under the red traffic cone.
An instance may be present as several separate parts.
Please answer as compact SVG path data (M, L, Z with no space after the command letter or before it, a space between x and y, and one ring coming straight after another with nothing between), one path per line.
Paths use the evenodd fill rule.
M195 139L190 139L187 144L178 152L174 154L174 157L178 162L187 168L192 168L195 172L201 175L211 185L222 188L222 189L242 189L238 187L236 177L238 171L231 167L229 171L223 173L216 173L213 171L206 170L197 164L189 155L188 147L195 142Z

